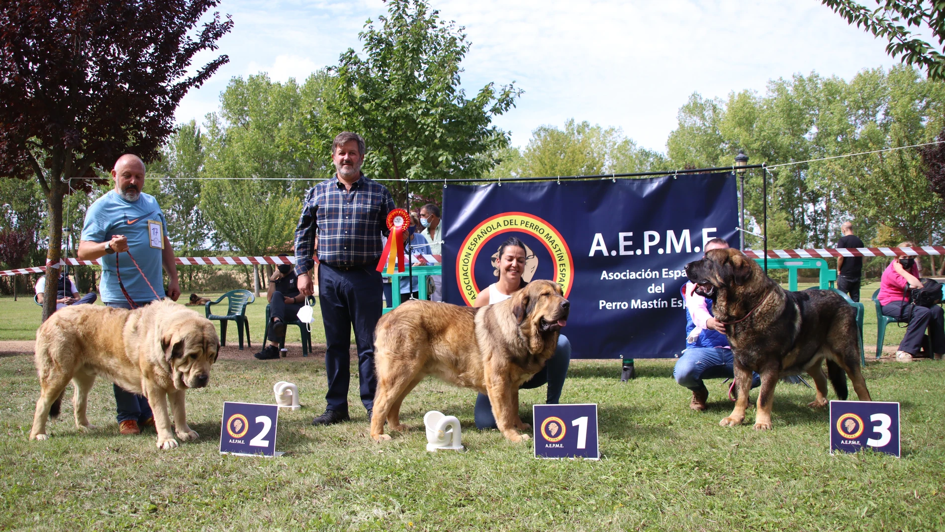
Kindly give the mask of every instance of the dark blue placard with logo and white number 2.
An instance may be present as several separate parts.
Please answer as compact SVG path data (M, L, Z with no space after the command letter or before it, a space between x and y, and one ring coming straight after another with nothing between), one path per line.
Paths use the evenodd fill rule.
M242 456L278 456L276 427L279 406L258 403L223 403L220 453Z

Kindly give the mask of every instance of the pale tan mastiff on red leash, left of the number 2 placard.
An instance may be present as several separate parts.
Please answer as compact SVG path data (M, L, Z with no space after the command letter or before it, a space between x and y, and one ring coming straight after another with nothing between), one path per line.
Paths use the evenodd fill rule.
M46 418L60 413L65 386L73 381L76 427L91 427L85 410L95 376L143 394L154 413L158 448L198 438L187 426L184 392L207 386L219 340L213 323L170 300L135 310L97 305L63 308L36 333L40 399L30 439L46 439ZM174 410L172 432L166 399Z

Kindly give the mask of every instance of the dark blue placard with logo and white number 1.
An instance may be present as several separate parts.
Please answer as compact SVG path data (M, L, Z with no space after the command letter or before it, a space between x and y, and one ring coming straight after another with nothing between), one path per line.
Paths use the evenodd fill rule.
M532 406L536 458L600 458L596 404Z

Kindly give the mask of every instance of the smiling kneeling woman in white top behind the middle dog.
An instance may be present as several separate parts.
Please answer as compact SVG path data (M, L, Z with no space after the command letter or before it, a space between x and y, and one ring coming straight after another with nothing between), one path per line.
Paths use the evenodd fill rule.
M499 281L479 292L473 306L482 307L510 298L525 285L522 279L524 268L525 245L518 238L509 237L499 246ZM558 404L570 364L571 342L565 335L558 335L558 348L555 349L555 354L548 359L541 371L535 373L521 387L536 388L547 383L548 393L545 403ZM481 393L475 400L475 426L479 429L496 428L489 396Z

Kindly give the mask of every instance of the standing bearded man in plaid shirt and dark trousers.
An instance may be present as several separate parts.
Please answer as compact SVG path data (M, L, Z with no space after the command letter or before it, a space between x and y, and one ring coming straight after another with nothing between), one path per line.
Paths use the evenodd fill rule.
M343 132L332 143L332 161L337 173L309 189L302 204L296 230L296 275L299 291L313 293L309 271L315 266L312 253L318 235L318 300L325 325L325 370L328 403L313 425L348 420L348 386L351 381L351 330L357 344L361 403L374 407L374 327L381 318L384 293L377 263L387 234L387 213L394 200L384 185L361 173L364 139Z

